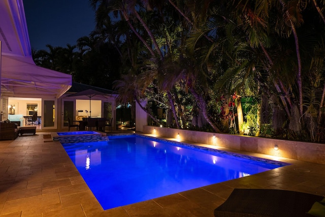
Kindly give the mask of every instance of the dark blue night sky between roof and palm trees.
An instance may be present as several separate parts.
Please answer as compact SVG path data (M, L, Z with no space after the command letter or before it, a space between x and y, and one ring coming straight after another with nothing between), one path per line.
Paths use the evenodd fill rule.
M67 47L94 30L94 11L88 0L23 0L30 45Z

